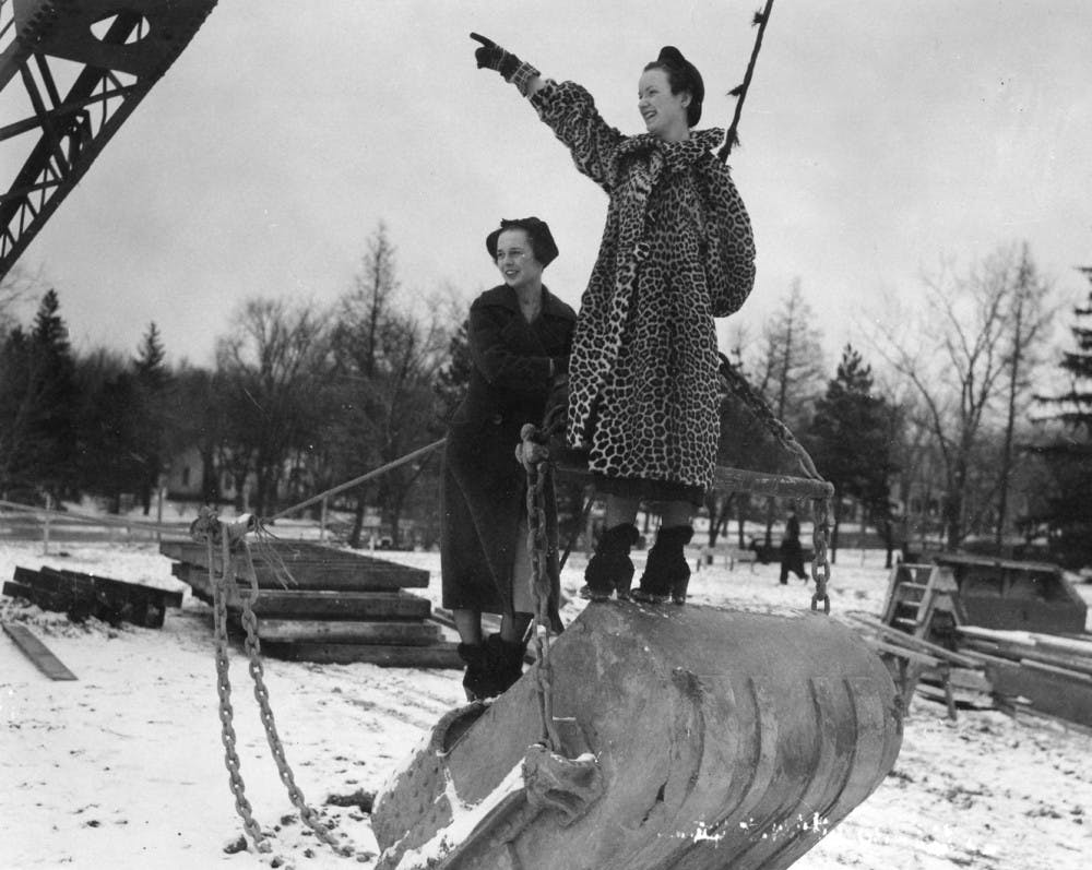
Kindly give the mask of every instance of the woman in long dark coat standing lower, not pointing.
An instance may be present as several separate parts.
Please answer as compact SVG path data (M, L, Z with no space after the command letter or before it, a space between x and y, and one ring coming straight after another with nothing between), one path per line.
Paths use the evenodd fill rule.
M577 315L542 283L557 257L536 217L502 221L486 249L505 283L471 305L474 368L452 415L444 451L440 553L443 606L454 612L467 698L499 694L519 679L534 605L526 550L526 475L515 458L520 429L541 425L555 382L568 371ZM557 618L557 512L547 492L549 610ZM500 613L483 639L482 613Z

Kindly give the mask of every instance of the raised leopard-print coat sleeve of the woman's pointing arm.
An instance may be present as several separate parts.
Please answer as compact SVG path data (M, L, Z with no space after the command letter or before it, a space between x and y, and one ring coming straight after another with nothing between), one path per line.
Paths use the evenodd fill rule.
M610 160L625 136L603 120L592 95L573 82L549 81L531 105L572 153L577 168L609 193Z

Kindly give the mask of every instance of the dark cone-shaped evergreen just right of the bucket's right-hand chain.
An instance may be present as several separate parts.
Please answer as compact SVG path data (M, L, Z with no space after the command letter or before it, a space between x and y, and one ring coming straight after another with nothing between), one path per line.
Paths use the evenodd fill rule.
M889 438L891 418L888 403L873 394L871 367L846 345L826 395L816 403L807 438L809 452L817 470L834 485L835 498L856 499L887 533L889 557L889 488L895 472ZM838 552L840 515L835 506L832 558Z

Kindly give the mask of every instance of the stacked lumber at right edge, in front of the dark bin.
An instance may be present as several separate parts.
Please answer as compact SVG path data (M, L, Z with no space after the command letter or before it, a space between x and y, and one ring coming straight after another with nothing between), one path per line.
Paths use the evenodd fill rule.
M1092 726L1092 635L957 631L960 652L982 664L1007 705Z

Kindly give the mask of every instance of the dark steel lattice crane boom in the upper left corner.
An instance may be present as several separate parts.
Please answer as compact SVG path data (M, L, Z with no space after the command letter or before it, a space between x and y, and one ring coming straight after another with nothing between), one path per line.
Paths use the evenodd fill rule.
M25 117L0 121L0 278L216 0L0 0L0 97L22 85ZM9 160L14 153L16 158ZM22 155L22 160L19 156Z

